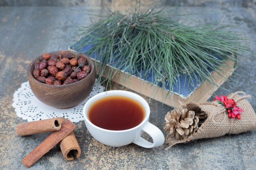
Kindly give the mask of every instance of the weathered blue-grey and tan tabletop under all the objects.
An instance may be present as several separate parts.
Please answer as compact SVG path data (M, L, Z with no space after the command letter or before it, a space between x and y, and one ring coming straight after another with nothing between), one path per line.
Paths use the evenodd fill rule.
M27 81L27 67L37 56L45 52L67 49L73 44L77 33L74 22L88 26L90 16L77 12L107 15L101 7L0 7L0 169L27 169L21 160L40 144L48 134L18 137L17 124L26 122L16 116L13 93L22 82ZM211 13L218 11L218 13ZM240 24L237 29L248 38L248 47L256 46L256 11L250 8L183 7L178 13L204 13L193 15L197 23L219 22L226 14L225 24ZM65 16L67 15L67 18ZM72 20L72 22L70 22ZM92 16L97 21L99 17ZM256 110L256 60L255 53L239 57L238 68L216 94L244 91ZM113 89L121 86L113 85ZM148 101L148 98L145 97ZM212 100L211 97L210 100ZM160 102L150 102L150 122L163 132L164 115L173 108ZM225 135L214 139L200 139L186 144L177 144L169 150L166 144L153 148L141 148L130 144L112 148L96 141L83 121L76 123L74 130L82 153L79 159L65 161L58 146L50 150L31 170L58 169L256 169L256 130L240 135ZM166 135L166 133L164 133Z

